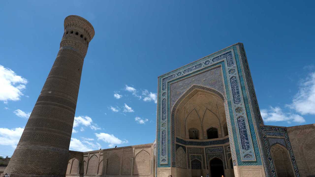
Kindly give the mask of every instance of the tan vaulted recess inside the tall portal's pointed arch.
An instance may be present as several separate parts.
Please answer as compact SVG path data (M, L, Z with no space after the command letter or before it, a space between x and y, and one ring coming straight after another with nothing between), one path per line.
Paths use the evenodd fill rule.
M213 158L215 154L221 154L222 157L228 156L229 159L231 158L231 149L234 148L231 148L229 143L228 128L230 127L230 123L228 115L226 115L228 114L228 112L226 113L226 105L226 98L223 94L213 88L200 85L192 85L192 87L182 94L176 101L171 109L171 122L174 122L174 126L171 126L171 138L174 140L172 141L174 142L172 148L177 147L175 144L185 146L186 154L182 153L181 156L185 155L185 158L187 159L187 165L180 166L184 168L176 168L177 174L187 177L190 177L190 174L194 176L194 170L189 168L190 165L188 165L192 163L192 159L189 159L189 156L191 154L197 155L198 153L195 153L194 149L200 149L200 146L211 149L209 152L208 150L203 152L205 154L205 159ZM189 130L192 129L198 130L199 136L197 139L190 137ZM217 136L215 138L209 137L209 130L216 130ZM181 140L181 143L177 142L177 140ZM189 144L184 143L188 141ZM220 141L222 144L211 145L211 142L213 141ZM209 145L206 145L207 143ZM229 149L229 154L226 149ZM176 154L176 159L183 158L177 156L178 155ZM228 169L229 165L227 164L229 161L226 160L226 158L222 159L225 164L225 176L234 176L233 170ZM207 162L209 162L209 160L205 160L202 163ZM210 166L208 164L201 166L205 167L202 170L203 176L207 176L207 174L211 176Z

